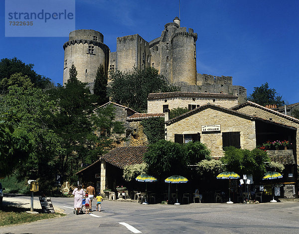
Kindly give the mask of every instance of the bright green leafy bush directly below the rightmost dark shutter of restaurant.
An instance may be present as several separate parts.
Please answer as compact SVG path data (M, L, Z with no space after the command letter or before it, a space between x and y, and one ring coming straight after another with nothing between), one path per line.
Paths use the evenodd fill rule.
M267 153L260 149L252 151L237 149L233 146L225 147L225 156L221 161L227 171L236 172L240 175L253 174L260 179L267 171L265 162L269 162Z

